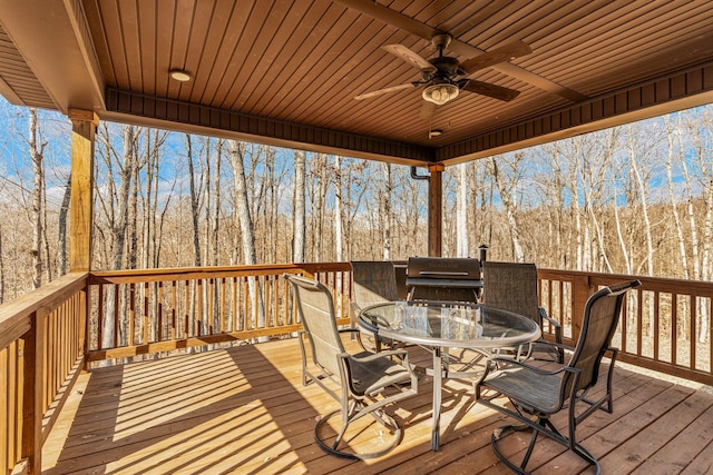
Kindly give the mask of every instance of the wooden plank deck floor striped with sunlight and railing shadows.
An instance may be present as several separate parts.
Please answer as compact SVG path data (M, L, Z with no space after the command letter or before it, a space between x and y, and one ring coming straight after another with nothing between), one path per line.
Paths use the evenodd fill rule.
M617 369L613 415L580 427L603 474L703 474L713 461L713 395ZM45 474L509 473L490 434L502 417L472 404L472 385L449 380L440 452L430 449L429 377L395 409L402 443L370 462L325 455L315 417L336 407L301 385L296 340L177 356L79 377L43 451ZM515 442L512 449L522 449ZM592 471L546 441L535 473Z

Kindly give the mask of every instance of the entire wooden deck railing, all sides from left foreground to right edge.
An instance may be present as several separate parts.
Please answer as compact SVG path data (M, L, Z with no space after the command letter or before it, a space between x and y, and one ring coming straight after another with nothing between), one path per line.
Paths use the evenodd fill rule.
M0 473L39 473L42 442L85 365L293 335L284 274L332 288L339 324L352 323L346 263L76 274L0 306ZM540 269L540 303L573 345L587 297L632 278ZM713 283L638 279L615 336L619 359L713 385Z

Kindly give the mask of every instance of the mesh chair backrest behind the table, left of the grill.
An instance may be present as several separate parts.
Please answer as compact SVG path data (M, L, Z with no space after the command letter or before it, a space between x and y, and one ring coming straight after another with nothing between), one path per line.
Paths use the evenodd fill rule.
M393 265L381 260L352 260L354 303L360 308L399 299Z

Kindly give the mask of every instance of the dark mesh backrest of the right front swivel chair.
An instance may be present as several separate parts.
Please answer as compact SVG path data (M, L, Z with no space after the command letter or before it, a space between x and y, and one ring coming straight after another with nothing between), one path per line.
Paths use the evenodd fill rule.
M604 287L587 299L582 333L568 364L580 372L577 390L596 384L602 357L612 344L618 324L624 295L639 285L638 280L632 280Z

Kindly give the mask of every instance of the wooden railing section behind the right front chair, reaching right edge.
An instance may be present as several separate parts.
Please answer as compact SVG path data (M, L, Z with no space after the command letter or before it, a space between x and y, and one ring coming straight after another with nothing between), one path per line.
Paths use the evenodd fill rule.
M560 321L566 343L582 328L587 297L637 278L628 293L613 345L619 360L713 385L713 283L540 269L540 303Z

